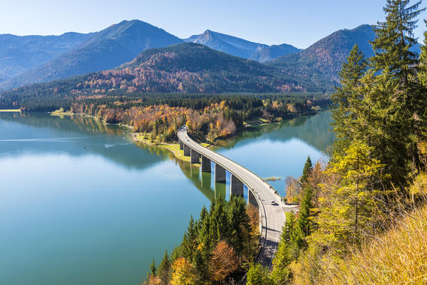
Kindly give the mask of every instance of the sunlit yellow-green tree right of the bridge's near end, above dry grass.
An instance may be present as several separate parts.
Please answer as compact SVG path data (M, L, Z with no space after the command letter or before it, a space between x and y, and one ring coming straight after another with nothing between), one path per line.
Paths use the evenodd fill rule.
M359 244L363 233L371 232L374 203L379 201L369 182L384 165L369 158L369 152L364 142L355 141L345 155L331 162L327 174L338 177L339 185L319 199L320 211L314 217L319 229L310 236L317 244L345 251L347 244Z

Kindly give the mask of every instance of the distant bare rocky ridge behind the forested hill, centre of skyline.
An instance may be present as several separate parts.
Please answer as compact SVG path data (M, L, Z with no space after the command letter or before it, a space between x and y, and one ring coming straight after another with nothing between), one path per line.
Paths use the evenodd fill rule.
M248 58L261 63L265 61L271 61L279 56L284 56L289 53L296 53L299 48L288 44L282 44L279 46L267 46L262 43L253 43L252 41L246 41L242 38L235 36L229 36L224 33L217 33L215 31L206 30L200 35L190 36L185 38L184 41L190 43L200 43L205 46L209 46L217 51L223 51L230 53L233 56L239 56L241 58Z

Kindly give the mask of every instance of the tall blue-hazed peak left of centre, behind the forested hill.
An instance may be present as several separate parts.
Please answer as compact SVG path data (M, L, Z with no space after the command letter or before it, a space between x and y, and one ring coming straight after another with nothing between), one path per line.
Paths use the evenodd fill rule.
M0 83L0 88L15 88L115 68L131 61L145 49L181 42L180 38L143 21L122 21L96 33L72 51Z

